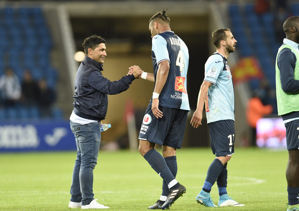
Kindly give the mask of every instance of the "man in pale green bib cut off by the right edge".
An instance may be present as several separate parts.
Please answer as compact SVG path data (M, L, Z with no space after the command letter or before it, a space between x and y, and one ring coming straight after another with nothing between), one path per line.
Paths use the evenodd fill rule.
M276 97L278 115L286 126L289 161L286 167L288 209L299 210L299 16L283 23L286 38L276 57Z

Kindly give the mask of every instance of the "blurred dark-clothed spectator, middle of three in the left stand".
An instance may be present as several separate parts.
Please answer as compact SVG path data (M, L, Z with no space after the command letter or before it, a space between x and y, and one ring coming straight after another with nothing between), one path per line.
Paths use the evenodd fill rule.
M38 85L33 80L31 72L25 70L22 81L22 97L21 101L24 106L36 105L36 98L38 94Z

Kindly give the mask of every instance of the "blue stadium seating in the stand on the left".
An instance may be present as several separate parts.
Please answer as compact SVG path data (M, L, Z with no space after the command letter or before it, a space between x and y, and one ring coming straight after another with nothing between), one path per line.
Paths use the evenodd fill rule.
M51 34L40 7L0 8L0 76L6 67L12 67L21 81L24 70L28 69L34 79L45 77L49 86L55 88L58 76L51 67L52 46ZM53 117L57 116L59 109L55 108ZM0 120L40 117L36 106L0 108Z

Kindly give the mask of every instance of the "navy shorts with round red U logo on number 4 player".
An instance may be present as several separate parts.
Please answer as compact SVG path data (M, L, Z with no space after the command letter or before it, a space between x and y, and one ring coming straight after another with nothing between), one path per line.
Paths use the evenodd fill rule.
M187 123L188 111L159 106L162 118L156 118L148 106L142 120L139 139L180 149Z

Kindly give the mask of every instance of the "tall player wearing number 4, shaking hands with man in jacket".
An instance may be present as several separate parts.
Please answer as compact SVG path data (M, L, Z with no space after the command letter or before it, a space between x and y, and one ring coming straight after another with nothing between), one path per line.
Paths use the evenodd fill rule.
M144 115L139 133L139 152L163 178L162 194L148 209L167 209L186 188L176 180L176 149L181 148L190 111L187 94L188 48L170 29L165 10L149 21L152 34L154 74L141 78L155 82L152 99ZM130 73L129 73L130 74ZM155 150L162 145L162 155Z

